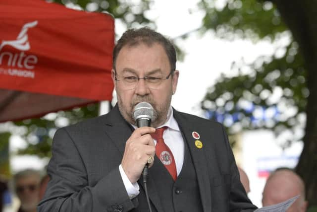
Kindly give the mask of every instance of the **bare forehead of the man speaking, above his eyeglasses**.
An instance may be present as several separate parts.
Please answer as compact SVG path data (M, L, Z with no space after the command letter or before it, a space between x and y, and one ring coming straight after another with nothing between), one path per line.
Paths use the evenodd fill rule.
M161 70L163 73L170 71L167 54L159 43L124 46L118 53L115 67L119 73L124 70L134 70L136 73L154 70Z

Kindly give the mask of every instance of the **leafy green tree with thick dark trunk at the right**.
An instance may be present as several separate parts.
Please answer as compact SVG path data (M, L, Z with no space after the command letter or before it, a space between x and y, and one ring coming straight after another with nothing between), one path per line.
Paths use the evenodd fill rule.
M276 49L272 57L244 64L252 70L250 74L240 72L231 78L222 75L207 92L202 108L210 118L225 121L232 134L257 128L272 129L277 136L292 131L294 137L288 142L304 142L296 171L306 183L309 203L316 206L317 0L227 0L222 5L219 2L200 1L206 11L205 31L213 29L226 39L238 36L272 42L290 35L290 42ZM243 66L233 68L239 70ZM264 111L270 119L256 117ZM298 135L301 125L305 130Z

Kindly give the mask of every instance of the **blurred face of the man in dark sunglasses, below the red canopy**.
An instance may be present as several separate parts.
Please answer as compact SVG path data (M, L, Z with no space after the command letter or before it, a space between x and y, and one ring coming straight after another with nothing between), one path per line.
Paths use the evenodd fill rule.
M39 203L39 180L36 176L25 176L15 183L15 190L24 211L34 211Z

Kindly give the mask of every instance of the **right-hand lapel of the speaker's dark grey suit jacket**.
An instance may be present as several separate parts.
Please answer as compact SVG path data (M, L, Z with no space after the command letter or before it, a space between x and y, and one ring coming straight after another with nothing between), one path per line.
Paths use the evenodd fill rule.
M182 132L185 142L187 142L189 151L193 158L194 167L196 170L200 196L202 199L204 212L211 211L211 187L208 168L206 165L206 156L204 148L198 148L195 145L196 139L193 138L192 132L202 132L206 129L202 129L199 123L192 123L190 120L186 120L177 111L173 111L174 117L178 123L178 126Z

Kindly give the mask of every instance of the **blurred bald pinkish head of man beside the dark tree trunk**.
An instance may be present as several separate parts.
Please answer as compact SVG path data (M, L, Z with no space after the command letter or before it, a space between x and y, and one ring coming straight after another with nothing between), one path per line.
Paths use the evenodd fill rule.
M263 206L270 206L286 201L292 197L300 197L286 212L306 212L304 181L293 170L280 168L272 172L267 178L263 190Z

